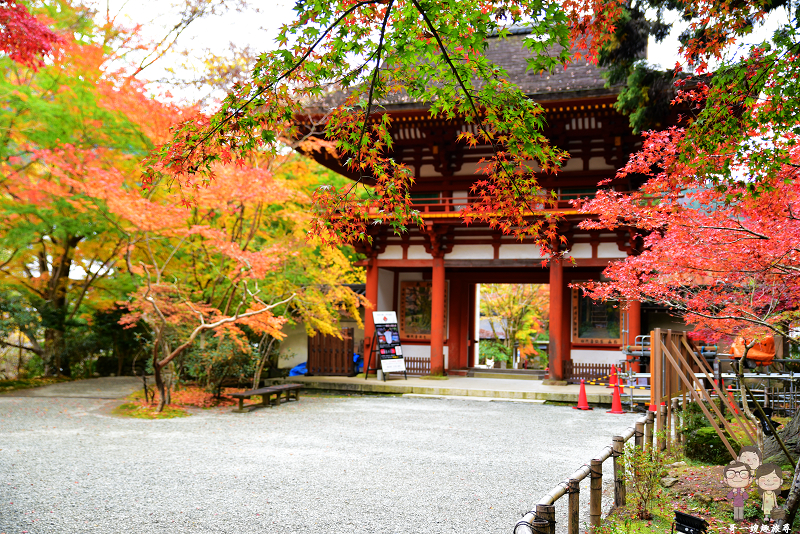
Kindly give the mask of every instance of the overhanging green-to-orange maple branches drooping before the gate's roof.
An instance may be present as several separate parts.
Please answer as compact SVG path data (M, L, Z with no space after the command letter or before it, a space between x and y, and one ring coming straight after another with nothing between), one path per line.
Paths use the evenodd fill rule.
M376 185L363 195L355 186L318 190L312 234L326 243L369 240L366 227L376 213L402 231L420 221L408 193L412 173L382 155L391 143L389 115L372 120L377 103L399 97L429 104L434 116L458 115L478 124L480 133L465 132L462 141L495 148L486 176L473 188L481 201L462 212L465 220L533 235L550 246L556 222L525 213L547 198L534 170L554 171L566 154L542 135L542 108L483 55L484 41L520 22L533 35L525 41L531 69L594 59L613 34L620 3L340 0L303 2L295 9L297 20L279 36L283 48L262 54L251 78L234 85L217 113L177 129L152 157L146 180L167 175L191 190L213 178L216 162L278 151L302 137L298 116L319 122L315 102L340 89L333 109L321 112L329 141L317 148L335 151Z

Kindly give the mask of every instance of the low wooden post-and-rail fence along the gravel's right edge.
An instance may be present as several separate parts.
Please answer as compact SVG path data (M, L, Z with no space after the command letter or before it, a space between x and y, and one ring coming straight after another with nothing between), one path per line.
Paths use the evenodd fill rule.
M555 502L567 494L569 495L567 499L567 532L569 534L578 534L580 532L580 481L587 476L590 477L589 524L592 527L600 525L603 497L603 462L610 457L613 457L614 461L614 506L625 506L627 492L621 458L625 442L635 437L634 444L636 447L641 447L645 450L653 447L654 421L655 414L650 412L646 417L636 421L633 427L629 427L621 435L611 438L611 445L606 446L596 458L593 458L588 464L572 473L567 480L556 485L547 495L539 499L535 508L525 514L514 526L514 534L533 534L534 532L537 534L555 534Z

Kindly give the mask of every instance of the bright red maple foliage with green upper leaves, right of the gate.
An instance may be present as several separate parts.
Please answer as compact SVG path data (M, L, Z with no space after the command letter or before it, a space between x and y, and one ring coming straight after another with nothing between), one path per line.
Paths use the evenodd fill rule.
M708 340L742 336L752 346L775 335L797 346L797 12L791 3L677 7L690 22L682 53L693 72L673 78L685 120L645 132L642 151L619 171L644 177L640 191L600 192L583 206L594 217L584 228L640 230L639 253L611 264L609 282L585 288L595 298L666 305ZM738 45L779 7L788 16L770 38ZM618 105L646 124L646 102L626 98ZM795 420L783 439L796 439L787 432L797 428ZM796 470L788 524L799 504Z

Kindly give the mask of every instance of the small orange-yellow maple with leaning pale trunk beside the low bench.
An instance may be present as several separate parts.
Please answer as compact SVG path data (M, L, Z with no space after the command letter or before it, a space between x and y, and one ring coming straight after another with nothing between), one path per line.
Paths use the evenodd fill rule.
M258 384L284 323L337 335L340 312L358 316L361 299L342 285L358 275L339 249L306 242L310 199L302 180L283 178L305 176L308 163L295 156L258 163L219 168L222 179L198 191L190 209L155 190L130 206L126 261L145 284L123 323L144 320L152 329L159 409L171 389L162 371L174 361L173 375L205 377L208 385L232 366L254 368Z

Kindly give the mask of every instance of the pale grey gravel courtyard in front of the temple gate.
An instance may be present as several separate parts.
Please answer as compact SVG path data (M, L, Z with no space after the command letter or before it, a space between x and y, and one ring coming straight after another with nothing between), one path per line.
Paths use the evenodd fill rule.
M113 405L0 397L0 533L510 534L636 418L401 397L168 420Z

